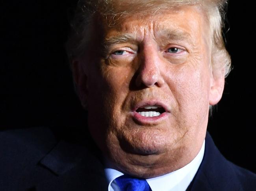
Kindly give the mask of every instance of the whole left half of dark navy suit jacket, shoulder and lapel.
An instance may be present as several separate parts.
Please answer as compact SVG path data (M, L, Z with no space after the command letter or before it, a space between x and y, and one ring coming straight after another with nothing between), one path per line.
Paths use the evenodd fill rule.
M57 139L50 128L2 131L0 151L1 190L104 190L98 158L84 145Z

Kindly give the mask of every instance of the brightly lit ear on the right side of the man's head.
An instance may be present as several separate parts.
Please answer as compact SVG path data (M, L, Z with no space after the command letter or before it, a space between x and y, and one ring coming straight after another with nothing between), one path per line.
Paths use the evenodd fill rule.
M216 105L222 97L224 84L225 84L225 69L219 69L219 71L211 72L211 89L209 95L209 104L211 106Z

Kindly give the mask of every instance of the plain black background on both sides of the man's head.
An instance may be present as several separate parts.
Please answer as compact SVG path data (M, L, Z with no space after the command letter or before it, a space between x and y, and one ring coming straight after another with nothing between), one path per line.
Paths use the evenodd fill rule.
M84 126L86 114L74 93L64 48L74 5L71 0L2 2L1 129L50 126L75 132ZM225 36L233 70L208 131L226 158L256 173L252 7L241 1L228 6Z

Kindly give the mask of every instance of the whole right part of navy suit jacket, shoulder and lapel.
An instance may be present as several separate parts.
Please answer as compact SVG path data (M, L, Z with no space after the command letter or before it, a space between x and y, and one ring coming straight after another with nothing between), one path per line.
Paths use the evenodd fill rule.
M204 158L191 190L252 191L256 190L256 175L226 160L207 133Z

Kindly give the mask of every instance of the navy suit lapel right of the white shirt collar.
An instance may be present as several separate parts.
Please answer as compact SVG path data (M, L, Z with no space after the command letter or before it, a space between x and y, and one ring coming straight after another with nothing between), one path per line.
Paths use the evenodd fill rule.
M195 175L190 191L238 191L242 190L233 169L234 165L228 162L219 152L210 134L206 134L204 158Z

